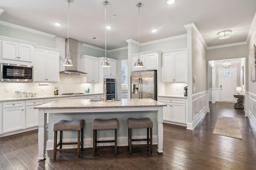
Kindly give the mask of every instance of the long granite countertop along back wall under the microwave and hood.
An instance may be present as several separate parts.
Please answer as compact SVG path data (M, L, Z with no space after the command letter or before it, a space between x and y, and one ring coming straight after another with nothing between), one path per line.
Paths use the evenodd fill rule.
M78 96L91 96L98 95L102 93L86 93L79 95L50 95L50 96L36 96L36 97L26 97L26 98L0 98L0 102L12 102L18 100L37 100L37 99L50 99L50 98L68 98L68 97L78 97Z

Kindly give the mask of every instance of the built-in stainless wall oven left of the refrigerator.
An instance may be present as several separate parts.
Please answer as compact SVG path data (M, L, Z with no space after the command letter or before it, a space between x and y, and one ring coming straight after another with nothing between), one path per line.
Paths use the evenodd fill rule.
M116 99L116 79L104 78L104 86L106 84L106 100Z

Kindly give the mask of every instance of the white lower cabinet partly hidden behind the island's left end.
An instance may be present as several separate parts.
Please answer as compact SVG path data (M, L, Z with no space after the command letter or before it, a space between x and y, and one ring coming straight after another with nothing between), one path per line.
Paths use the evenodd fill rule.
M26 101L26 128L38 126L38 109L34 107L44 104L43 100Z

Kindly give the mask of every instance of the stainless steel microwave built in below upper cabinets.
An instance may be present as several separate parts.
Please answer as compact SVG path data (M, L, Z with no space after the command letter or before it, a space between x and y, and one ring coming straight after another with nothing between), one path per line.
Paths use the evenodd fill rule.
M1 63L1 82L33 82L33 66Z

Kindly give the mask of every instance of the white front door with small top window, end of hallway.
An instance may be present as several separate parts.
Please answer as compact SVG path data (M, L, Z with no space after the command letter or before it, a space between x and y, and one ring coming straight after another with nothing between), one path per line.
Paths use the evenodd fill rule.
M221 102L235 102L236 68L219 68L219 88Z

